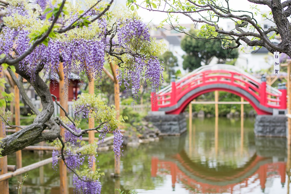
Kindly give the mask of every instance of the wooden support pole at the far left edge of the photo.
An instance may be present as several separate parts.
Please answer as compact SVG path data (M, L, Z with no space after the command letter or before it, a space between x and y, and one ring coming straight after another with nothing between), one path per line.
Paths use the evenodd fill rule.
M0 78L3 78L3 72L2 75L0 75ZM2 99L3 96L1 95L1 92L4 92L4 87L0 87L0 98ZM0 107L1 111L5 111L5 106ZM0 119L0 138L6 137L6 129L5 129L5 123ZM8 172L7 169L7 156L0 158L0 176L6 175ZM0 188L1 188L1 194L9 194L9 186L8 186L8 180L1 181L0 179Z

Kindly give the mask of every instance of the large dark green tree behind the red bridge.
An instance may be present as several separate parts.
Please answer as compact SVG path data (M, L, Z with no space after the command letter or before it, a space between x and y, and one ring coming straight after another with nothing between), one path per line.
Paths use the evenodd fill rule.
M237 49L223 49L221 40L197 40L191 36L185 36L181 41L181 48L186 52L183 56L183 69L193 71L201 65L208 65L216 57L217 63L224 63L227 58L238 57Z

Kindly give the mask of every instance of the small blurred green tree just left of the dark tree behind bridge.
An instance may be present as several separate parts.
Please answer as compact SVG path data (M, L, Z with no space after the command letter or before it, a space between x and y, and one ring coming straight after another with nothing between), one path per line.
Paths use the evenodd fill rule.
M160 61L163 61L164 72L167 76L164 76L166 82L170 82L171 75L175 75L174 67L178 66L178 59L173 55L171 51L166 51L159 56Z

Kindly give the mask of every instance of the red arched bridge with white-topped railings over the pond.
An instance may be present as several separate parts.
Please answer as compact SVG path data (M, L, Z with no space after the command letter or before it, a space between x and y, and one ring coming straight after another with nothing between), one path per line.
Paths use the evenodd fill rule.
M286 109L286 89L275 89L233 65L204 65L171 85L152 93L152 111L180 114L196 97L215 90L243 97L258 115L270 115L273 109Z

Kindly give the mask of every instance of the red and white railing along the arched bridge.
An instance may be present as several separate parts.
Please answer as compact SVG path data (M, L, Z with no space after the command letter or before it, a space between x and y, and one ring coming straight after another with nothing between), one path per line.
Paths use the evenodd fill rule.
M241 88L253 95L264 106L282 109L286 107L284 92L283 94L282 91L266 85L266 82L262 82L238 67L217 64L201 66L160 90L152 110L155 111L158 108L173 106L194 88L214 83L230 84Z

